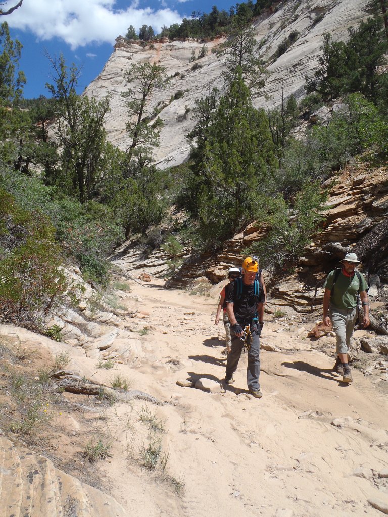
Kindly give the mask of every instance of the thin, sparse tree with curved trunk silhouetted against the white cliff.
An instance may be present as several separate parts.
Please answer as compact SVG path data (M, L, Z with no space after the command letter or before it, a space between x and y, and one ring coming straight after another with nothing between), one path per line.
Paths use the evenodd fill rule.
M166 67L148 62L135 63L125 72L124 78L128 83L135 83L122 94L127 100L128 118L127 132L132 139L128 147L128 161L137 158L143 164L150 162L152 147L159 145L161 120L158 117L150 123L151 111L147 104L152 99L155 89L166 87L169 79Z

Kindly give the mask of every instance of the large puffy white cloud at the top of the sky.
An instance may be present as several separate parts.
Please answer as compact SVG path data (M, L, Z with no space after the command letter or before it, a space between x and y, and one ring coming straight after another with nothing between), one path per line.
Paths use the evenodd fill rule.
M144 23L160 32L163 25L180 23L180 14L170 8L139 8L135 0L125 9L116 0L24 0L7 17L10 27L31 31L39 40L63 39L72 50L88 43L113 43L129 25Z

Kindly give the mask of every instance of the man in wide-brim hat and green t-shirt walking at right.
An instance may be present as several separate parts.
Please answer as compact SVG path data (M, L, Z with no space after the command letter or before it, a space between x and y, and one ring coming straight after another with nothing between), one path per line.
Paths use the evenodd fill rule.
M334 269L327 275L324 283L323 323L333 325L337 337L337 360L334 370L342 375L342 382L353 381L348 364L348 350L354 325L359 316L358 301L364 311L363 325L369 321L368 284L355 268L361 264L355 253L347 253L341 260L342 269Z

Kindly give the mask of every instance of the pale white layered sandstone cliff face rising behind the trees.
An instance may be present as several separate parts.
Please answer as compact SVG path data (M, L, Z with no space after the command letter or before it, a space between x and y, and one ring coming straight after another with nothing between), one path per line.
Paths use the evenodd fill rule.
M285 98L291 94L297 99L304 97L305 75L314 74L317 68L323 34L330 32L334 40L346 40L347 29L368 16L365 11L367 4L368 0L291 0L280 3L276 12L262 14L255 20L253 28L258 42L257 52L270 63L267 67L270 77L262 90L262 94L269 96L269 100L263 96L256 98L256 107L276 107L281 100L282 86ZM322 14L323 19L315 24L314 21ZM300 33L299 39L272 63L271 56L292 31ZM151 49L150 44L142 48L139 43L128 42L121 36L116 42L115 50L105 67L85 92L89 97L97 99L107 94L112 97L111 111L106 120L108 140L124 151L128 149L130 141L125 130L127 108L121 93L131 85L126 84L124 73L131 63L156 61L167 67L168 75L177 75L172 77L170 88L155 92L154 99L147 107L148 111L152 112L158 102L168 103L178 90L185 94L159 113L164 127L160 134L160 147L154 151L154 159L160 168L184 162L190 150L185 135L195 124L192 118L195 101L204 97L209 88L223 87L221 72L225 69L227 56L218 55L216 50L219 50L225 39L207 42L207 55L194 63L190 62L190 57L192 51L198 55L203 44L199 41L153 42ZM201 68L192 70L194 64Z

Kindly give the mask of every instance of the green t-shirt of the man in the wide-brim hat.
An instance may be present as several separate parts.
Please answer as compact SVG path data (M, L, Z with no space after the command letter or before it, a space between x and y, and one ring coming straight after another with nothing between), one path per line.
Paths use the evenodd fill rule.
M323 287L330 291L333 287L335 271L335 269L334 271L330 271L323 285ZM334 284L334 294L331 297L330 302L338 309L353 309L353 307L357 305L357 293L359 292L359 287L360 281L355 272L352 277L347 277L340 272ZM366 283L364 275L361 275L360 293L362 291L366 291L367 288L368 284Z

